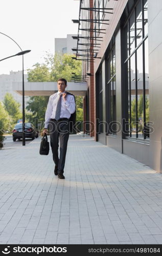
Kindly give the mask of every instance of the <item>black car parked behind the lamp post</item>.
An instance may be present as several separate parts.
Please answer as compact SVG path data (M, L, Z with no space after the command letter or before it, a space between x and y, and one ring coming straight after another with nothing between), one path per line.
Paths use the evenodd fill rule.
M38 137L38 131L35 129L32 123L25 123L25 138L31 138L34 140ZM22 123L16 123L12 131L13 141L22 138Z

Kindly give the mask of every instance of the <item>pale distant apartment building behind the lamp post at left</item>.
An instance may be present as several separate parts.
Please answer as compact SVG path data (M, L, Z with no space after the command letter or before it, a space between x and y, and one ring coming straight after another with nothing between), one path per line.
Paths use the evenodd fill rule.
M14 99L21 104L20 108L22 109L22 96L17 94L12 90L13 82L22 81L22 71L13 72L10 71L9 75L2 74L0 75L0 101L4 100L6 93L11 93ZM28 75L24 74L24 81L28 81ZM25 106L29 100L28 96L25 96Z

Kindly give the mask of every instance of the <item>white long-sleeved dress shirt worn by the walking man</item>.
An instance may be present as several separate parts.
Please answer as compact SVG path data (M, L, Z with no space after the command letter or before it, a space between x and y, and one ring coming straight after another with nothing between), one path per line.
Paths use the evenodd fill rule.
M45 112L44 127L48 128L50 118L55 118L57 101L59 99L59 91L54 93L49 98L47 110ZM70 118L75 112L75 99L73 95L66 94L66 100L61 97L61 114L60 118Z

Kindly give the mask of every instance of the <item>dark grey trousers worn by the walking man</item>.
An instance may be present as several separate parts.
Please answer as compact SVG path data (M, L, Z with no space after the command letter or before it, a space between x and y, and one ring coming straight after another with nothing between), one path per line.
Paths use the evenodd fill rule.
M63 174L67 142L69 137L69 121L50 121L49 123L50 144L52 148L53 160L56 166L58 166L58 174ZM60 156L58 157L58 147L60 140Z

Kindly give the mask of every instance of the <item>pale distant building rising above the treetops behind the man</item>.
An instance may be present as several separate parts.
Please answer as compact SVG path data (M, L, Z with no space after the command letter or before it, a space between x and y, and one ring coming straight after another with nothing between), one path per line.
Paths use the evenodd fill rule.
M55 38L55 53L73 53L72 48L77 47L77 40L74 40L73 34L68 34L66 38Z

